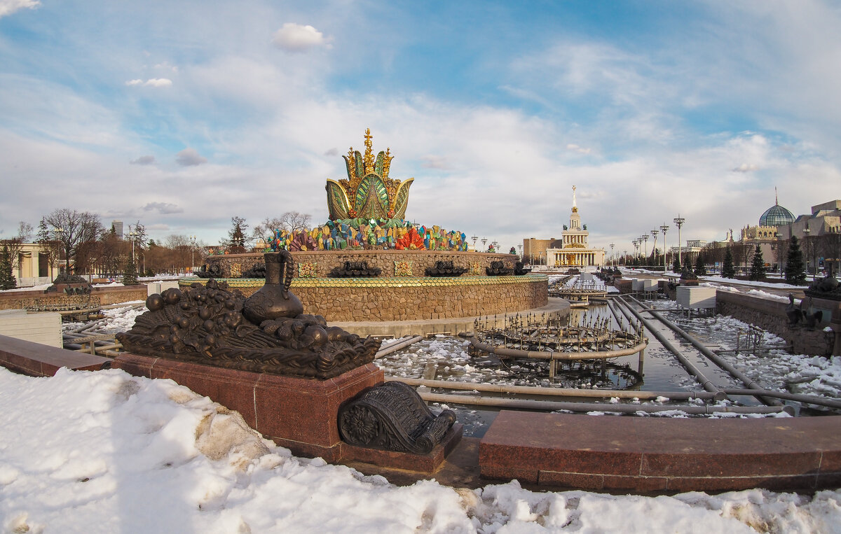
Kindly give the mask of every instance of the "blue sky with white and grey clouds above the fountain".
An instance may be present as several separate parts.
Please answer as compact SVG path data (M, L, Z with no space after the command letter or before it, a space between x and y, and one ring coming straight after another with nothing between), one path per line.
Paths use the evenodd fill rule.
M838 28L817 0L0 0L0 237L62 207L206 243L324 223L371 128L417 223L559 238L576 186L591 245L721 240L775 188L841 198Z

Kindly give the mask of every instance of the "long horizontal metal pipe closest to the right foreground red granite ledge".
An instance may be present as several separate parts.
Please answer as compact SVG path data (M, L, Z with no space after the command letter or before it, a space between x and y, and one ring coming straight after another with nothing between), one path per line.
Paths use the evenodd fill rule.
M791 406L653 406L636 404L599 404L595 402L560 402L528 401L525 399L501 399L499 397L480 397L468 395L445 395L441 393L418 392L421 399L431 402L465 404L476 406L496 406L500 408L521 408L539 411L613 411L617 413L657 413L659 411L683 411L690 415L712 415L714 413L751 413L773 414L785 411L794 414Z

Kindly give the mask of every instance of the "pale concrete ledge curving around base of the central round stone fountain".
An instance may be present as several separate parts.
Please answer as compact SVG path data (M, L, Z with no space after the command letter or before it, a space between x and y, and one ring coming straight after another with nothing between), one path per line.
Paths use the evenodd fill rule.
M503 317L514 317L516 315L541 315L565 317L569 314L569 302L563 299L549 297L549 303L540 308L532 310L521 310L520 312L509 312L505 315L497 315L500 321ZM491 316L489 316L491 317ZM415 321L360 321L360 322L330 322L333 327L342 327L347 332L360 336L426 336L432 333L449 332L457 335L459 332L473 332L473 322L484 319L482 317L452 317L449 319L420 319Z

